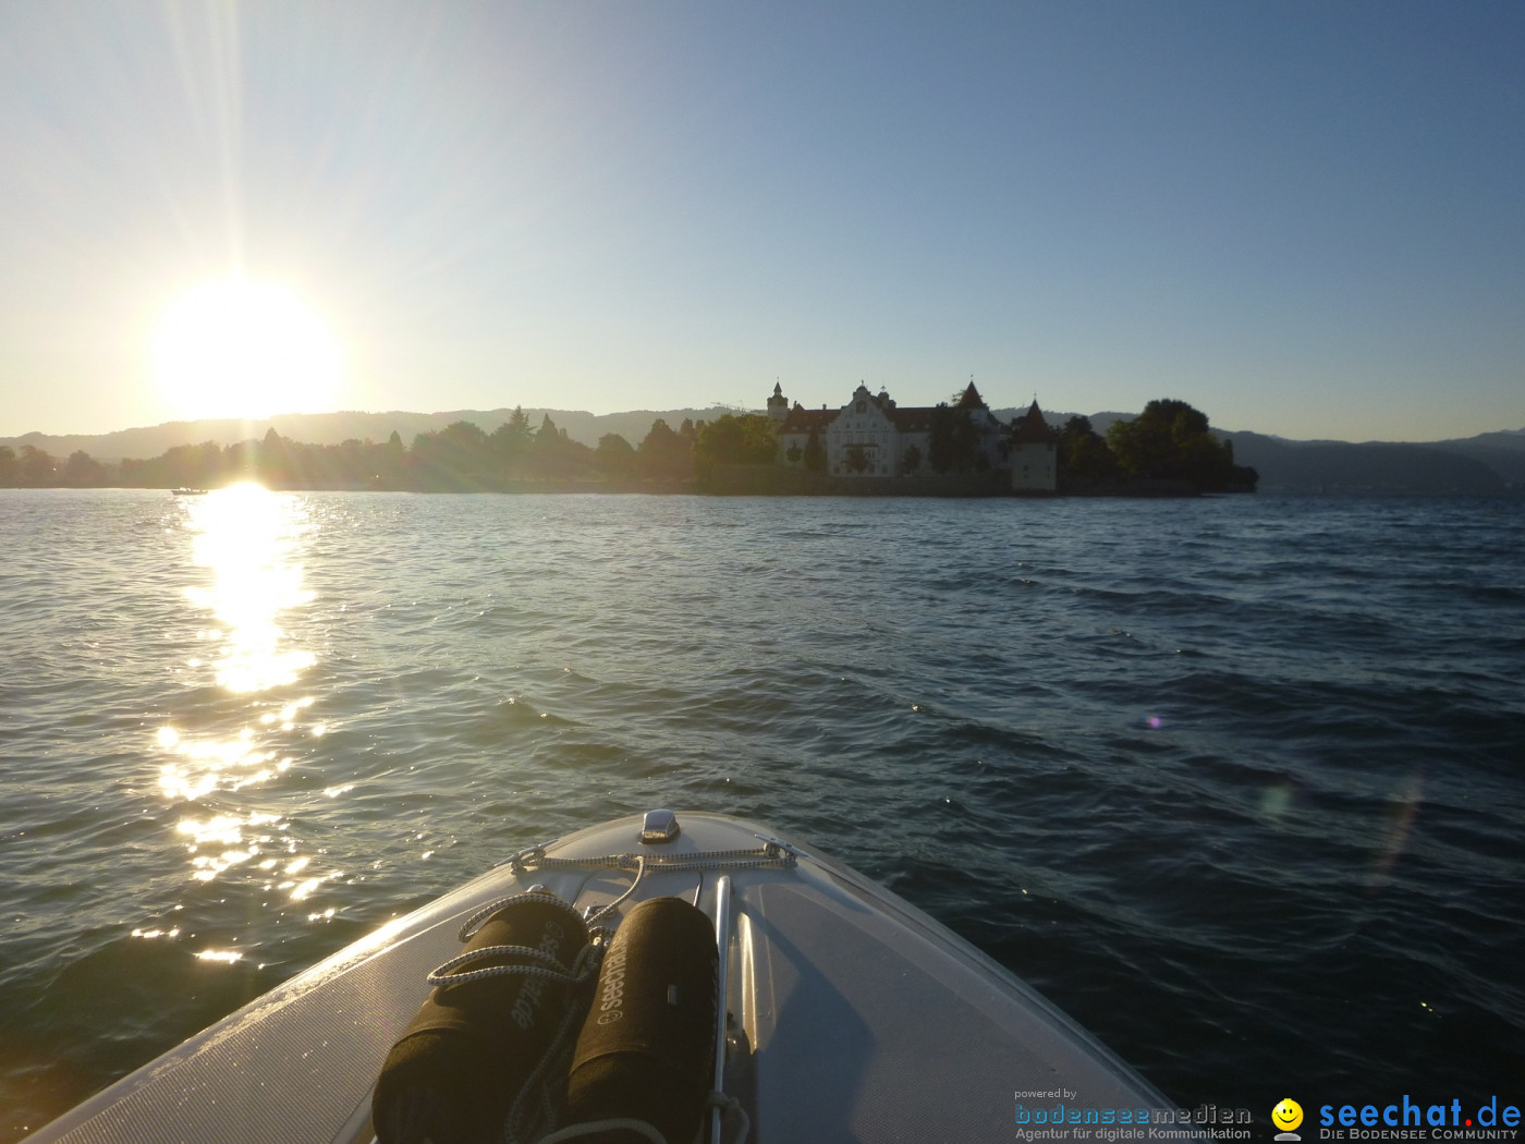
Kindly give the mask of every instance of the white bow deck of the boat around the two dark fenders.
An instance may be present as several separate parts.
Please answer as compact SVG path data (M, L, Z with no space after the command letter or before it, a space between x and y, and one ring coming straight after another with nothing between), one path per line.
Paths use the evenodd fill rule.
M543 847L387 923L30 1138L168 1142L371 1141L371 1091L392 1042L459 952L462 920L543 885L578 909L605 905L633 872L567 859L639 854L621 905L676 895L721 918L730 1014L723 1088L753 1141L1010 1141L1014 1094L1060 1092L1071 1109L1162 1109L1138 1074L1028 985L936 921L804 845L784 862L729 866L764 828L682 813L642 845L621 819ZM538 865L537 865L538 863ZM705 868L663 869L691 863ZM1020 1101L1016 1101L1020 1103ZM1049 1107L1055 1100L1026 1101Z

